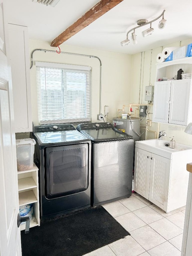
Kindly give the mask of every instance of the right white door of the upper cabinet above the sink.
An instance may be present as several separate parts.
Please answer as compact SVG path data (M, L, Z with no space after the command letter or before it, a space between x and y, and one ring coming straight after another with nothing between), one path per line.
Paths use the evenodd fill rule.
M191 79L171 81L169 123L187 125L190 106Z

